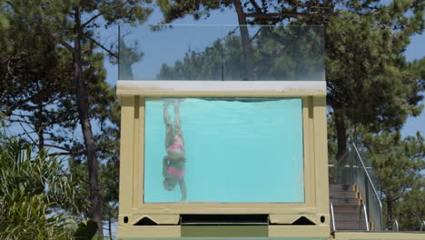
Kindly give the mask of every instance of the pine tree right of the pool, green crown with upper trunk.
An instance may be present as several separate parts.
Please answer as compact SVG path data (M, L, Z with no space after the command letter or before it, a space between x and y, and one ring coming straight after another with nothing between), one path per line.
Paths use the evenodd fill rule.
M423 31L418 1L341 1L326 22L327 104L335 117L336 158L343 155L349 128L378 133L400 130L419 115L423 61L403 55L410 36ZM411 15L410 13L414 13Z

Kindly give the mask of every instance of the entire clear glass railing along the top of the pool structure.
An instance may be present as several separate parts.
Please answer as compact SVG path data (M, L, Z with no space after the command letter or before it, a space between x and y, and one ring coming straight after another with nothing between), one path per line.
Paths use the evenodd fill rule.
M325 80L321 26L139 25L119 35L119 80Z

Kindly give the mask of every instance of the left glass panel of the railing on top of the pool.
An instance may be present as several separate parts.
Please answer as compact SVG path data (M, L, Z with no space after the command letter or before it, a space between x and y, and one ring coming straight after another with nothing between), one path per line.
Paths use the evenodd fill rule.
M120 80L222 80L220 26L120 29Z

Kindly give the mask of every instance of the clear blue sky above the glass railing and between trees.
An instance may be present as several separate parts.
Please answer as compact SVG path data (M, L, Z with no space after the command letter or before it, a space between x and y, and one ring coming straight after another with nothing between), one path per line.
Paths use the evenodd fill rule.
M173 25L237 25L237 15L235 13L232 13L231 11L234 11L234 9L231 9L230 12L214 11L209 18L202 19L199 21L194 21L192 16L186 16L183 19L174 21ZM158 11L154 11L153 15L151 15L148 21L146 22L146 25L155 25L161 20L162 15ZM116 39L117 33L118 31L115 27L104 31L103 33L101 33L101 35ZM139 34L142 35L143 33ZM173 39L168 39L168 41L172 40ZM185 50L186 49L184 49L184 51ZM420 59L425 56L425 34L414 35L411 37L411 42L406 49L405 55L408 61ZM118 78L118 66L111 65L108 61L105 61L105 68L108 73L106 78L107 82L111 85L115 85ZM425 93L422 93L422 95L425 95ZM422 101L421 104L425 105L425 101ZM425 135L425 110L423 110L421 115L419 116L410 116L407 119L406 124L402 128L401 134L403 136L415 135L418 131L421 135Z

